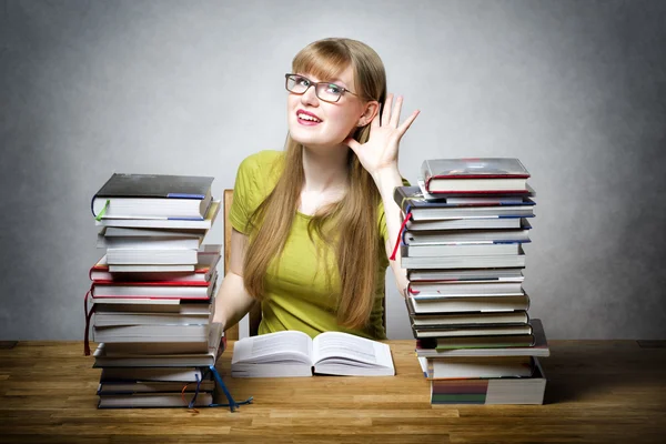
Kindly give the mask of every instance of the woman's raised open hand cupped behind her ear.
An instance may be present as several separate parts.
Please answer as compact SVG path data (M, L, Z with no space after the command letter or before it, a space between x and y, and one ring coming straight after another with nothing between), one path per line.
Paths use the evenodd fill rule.
M386 97L384 111L380 122L380 113L374 117L370 124L370 138L361 144L352 138L343 142L350 147L365 170L373 176L385 169L397 170L397 149L400 140L410 129L420 111L414 111L400 127L400 111L403 98L395 99L393 109L393 94Z

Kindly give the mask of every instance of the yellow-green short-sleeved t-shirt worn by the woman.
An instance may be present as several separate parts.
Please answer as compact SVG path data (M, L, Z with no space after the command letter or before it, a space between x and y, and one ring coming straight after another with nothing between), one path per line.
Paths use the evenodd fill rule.
M246 222L259 204L275 186L284 165L284 152L262 151L252 154L239 167L229 219L231 225L246 233ZM337 324L336 300L340 274L334 252L327 255L331 286L326 283L326 262L317 261L315 245L307 234L311 216L296 211L290 235L280 261L273 260L265 276L262 321L259 334L297 330L314 337L326 331L341 331L370 339L385 339L383 326L384 280L389 260L384 244L387 238L384 205L380 203L377 226L381 239L377 261L375 302L367 325L361 330ZM316 234L314 234L316 240ZM279 265L279 266L278 266ZM333 294L331 294L331 289Z

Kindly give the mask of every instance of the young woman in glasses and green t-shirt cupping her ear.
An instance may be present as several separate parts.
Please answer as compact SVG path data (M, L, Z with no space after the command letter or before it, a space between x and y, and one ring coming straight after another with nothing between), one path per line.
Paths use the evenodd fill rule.
M406 287L400 260L389 261L401 223L398 142L418 111L398 124L402 98L386 94L380 57L350 39L305 47L285 85L285 150L250 155L238 171L213 322L232 326L261 301L260 334L384 339L390 263Z

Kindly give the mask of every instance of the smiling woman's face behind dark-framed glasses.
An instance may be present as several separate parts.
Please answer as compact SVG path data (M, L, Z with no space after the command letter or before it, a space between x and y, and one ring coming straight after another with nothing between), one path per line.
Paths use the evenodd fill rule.
M354 73L347 67L336 79L317 79L307 72L297 72L313 82L331 82L356 92ZM325 102L316 97L312 85L303 94L290 92L286 100L286 121L291 138L305 147L335 147L350 137L364 111L363 101L345 92L337 102Z

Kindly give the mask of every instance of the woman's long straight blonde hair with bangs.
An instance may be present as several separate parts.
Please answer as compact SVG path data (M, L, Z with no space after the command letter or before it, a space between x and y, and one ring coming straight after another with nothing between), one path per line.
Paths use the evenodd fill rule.
M319 79L334 79L350 65L354 71L355 92L363 100L376 100L383 107L386 98L384 64L372 48L360 41L319 40L301 50L292 62L293 72L309 73ZM365 125L357 128L353 138L364 143L369 135L370 125ZM311 240L316 233L336 253L341 284L336 304L337 323L359 329L367 324L375 297L377 254L383 249L377 241L381 239L377 228L381 196L372 176L351 149L347 159L346 195L317 211L310 220L307 231ZM245 252L243 281L248 292L255 299L263 297L266 270L271 261L282 253L303 184L303 145L287 135L284 170L248 224L251 235ZM335 223L330 223L333 220Z

